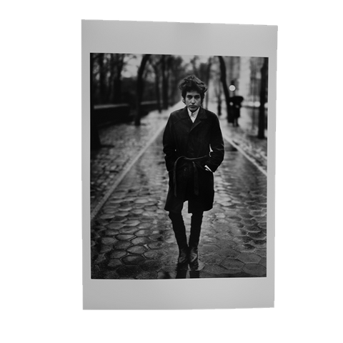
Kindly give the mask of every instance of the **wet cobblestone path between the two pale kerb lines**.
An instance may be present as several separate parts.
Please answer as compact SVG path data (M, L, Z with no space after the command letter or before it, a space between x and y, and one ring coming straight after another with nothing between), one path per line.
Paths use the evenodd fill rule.
M126 174L91 224L93 279L265 277L267 177L225 141L214 173L214 208L204 212L199 263L177 267L164 202L168 174L162 134ZM191 214L183 209L189 237Z

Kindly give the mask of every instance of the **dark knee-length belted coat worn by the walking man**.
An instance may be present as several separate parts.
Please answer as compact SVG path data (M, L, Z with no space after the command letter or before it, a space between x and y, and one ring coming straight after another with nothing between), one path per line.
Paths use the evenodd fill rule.
M189 213L212 209L212 172L224 159L224 141L217 115L200 107L193 123L187 107L172 112L164 129L163 151L169 172L169 191L164 209L175 211L185 200L189 200ZM205 165L212 172L206 171Z

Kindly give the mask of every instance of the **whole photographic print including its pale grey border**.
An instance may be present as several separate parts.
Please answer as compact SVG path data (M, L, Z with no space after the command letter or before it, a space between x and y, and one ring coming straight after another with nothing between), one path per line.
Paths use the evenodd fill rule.
M81 310L276 306L278 39L80 20Z

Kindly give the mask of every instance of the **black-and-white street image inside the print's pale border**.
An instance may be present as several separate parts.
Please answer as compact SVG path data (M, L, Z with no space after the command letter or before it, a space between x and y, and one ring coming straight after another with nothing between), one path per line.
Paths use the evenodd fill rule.
M92 279L266 277L268 58L90 61Z

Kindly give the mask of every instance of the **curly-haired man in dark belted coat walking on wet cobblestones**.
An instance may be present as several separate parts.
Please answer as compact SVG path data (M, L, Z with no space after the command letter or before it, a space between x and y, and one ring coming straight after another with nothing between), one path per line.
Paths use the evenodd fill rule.
M224 159L224 141L216 114L202 108L207 87L189 75L179 84L186 106L170 114L163 136L169 191L164 209L169 211L179 246L179 264L197 262L204 211L214 202L214 176ZM210 151L210 148L212 149ZM192 213L187 244L182 218L184 202Z

